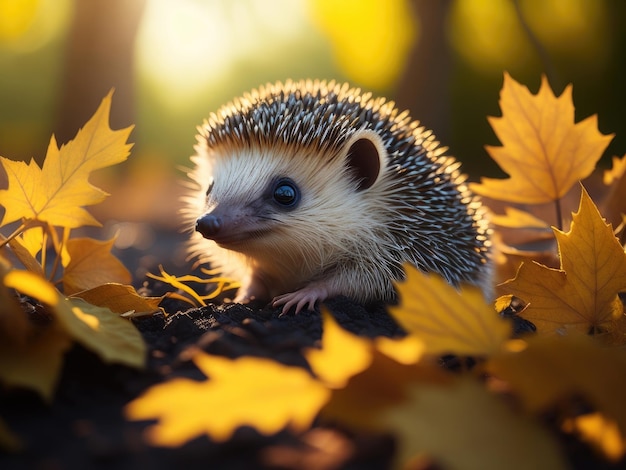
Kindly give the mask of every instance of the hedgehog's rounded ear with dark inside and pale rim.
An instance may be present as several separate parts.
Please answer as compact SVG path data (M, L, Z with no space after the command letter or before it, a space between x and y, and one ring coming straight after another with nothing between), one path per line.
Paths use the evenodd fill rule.
M357 191L371 188L387 158L379 135L374 131L358 131L345 143L344 154L348 173L358 182Z

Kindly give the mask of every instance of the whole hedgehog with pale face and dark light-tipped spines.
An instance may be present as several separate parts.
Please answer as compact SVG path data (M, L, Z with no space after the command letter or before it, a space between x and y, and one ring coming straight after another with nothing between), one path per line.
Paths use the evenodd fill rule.
M490 292L485 211L460 164L393 101L335 81L267 84L198 128L183 212L235 302L393 302L404 264Z

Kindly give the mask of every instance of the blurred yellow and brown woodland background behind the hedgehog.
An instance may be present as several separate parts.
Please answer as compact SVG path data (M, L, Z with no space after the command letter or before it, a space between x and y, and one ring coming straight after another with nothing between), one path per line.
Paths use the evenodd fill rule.
M196 126L261 83L387 96L475 180L503 176L484 146L504 71L533 92L542 74L557 93L573 83L577 120L616 134L605 164L626 153L625 59L623 0L0 0L0 155L41 162L115 88L112 127L135 124L135 147L95 175L113 196L93 212L119 245L148 246L145 222L177 223Z

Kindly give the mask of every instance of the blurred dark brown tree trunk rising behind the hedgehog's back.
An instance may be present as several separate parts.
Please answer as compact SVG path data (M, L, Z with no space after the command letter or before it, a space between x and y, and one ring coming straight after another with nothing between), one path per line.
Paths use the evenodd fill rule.
M445 145L450 134L452 72L446 26L452 0L412 0L411 4L419 21L419 37L399 80L396 103L400 109L409 109Z

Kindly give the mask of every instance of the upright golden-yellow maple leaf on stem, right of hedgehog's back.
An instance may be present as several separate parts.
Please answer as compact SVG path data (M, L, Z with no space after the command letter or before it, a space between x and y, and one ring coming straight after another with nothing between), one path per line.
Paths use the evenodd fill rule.
M489 118L502 147L487 147L508 179L482 178L470 184L493 199L541 204L563 197L589 176L613 134L598 131L597 116L574 123L572 86L556 97L547 78L536 95L504 74L502 117Z

